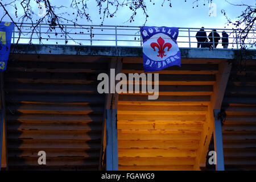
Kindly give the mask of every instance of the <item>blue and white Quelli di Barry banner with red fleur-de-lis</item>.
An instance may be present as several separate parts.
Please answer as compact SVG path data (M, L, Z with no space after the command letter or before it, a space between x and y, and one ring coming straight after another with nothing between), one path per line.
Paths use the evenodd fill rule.
M141 27L144 72L159 71L181 63L176 27Z

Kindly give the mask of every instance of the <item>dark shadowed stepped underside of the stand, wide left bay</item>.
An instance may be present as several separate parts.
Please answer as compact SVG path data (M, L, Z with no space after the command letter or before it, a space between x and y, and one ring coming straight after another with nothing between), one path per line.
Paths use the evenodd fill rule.
M9 169L97 170L108 57L11 55L5 73ZM46 166L38 152L46 151Z

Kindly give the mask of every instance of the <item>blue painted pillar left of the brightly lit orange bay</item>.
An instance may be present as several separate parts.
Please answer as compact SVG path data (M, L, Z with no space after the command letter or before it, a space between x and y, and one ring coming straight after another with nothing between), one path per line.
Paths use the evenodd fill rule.
M106 170L118 171L117 109L106 110Z

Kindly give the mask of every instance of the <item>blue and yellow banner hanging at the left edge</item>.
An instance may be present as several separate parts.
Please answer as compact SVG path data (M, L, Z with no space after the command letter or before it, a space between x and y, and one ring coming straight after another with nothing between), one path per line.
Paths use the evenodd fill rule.
M13 29L14 23L0 22L0 72L6 70L11 50L11 34Z

